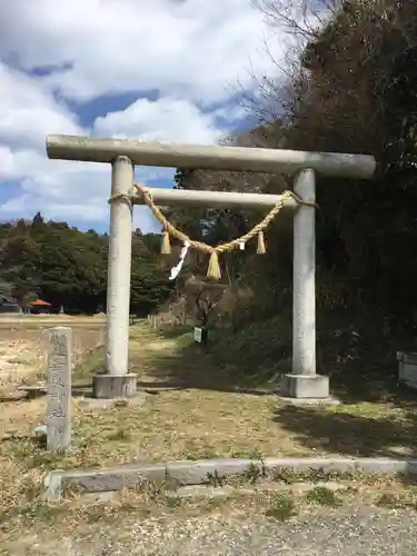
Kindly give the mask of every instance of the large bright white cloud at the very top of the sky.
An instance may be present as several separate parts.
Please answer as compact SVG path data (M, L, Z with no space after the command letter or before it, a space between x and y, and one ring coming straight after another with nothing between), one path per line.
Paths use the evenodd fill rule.
M61 68L46 78L64 96L158 89L212 102L271 70L266 26L250 0L3 0L0 51L21 66ZM30 37L30 40L26 38ZM281 59L285 44L270 48Z

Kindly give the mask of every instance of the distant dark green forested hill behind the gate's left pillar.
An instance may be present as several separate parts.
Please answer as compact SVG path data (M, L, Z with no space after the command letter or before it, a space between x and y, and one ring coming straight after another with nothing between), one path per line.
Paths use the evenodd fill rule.
M67 312L106 310L109 238L82 232L66 222L32 221L0 225L0 292L26 302L41 298ZM160 236L132 235L132 312L147 315L170 292L160 257Z

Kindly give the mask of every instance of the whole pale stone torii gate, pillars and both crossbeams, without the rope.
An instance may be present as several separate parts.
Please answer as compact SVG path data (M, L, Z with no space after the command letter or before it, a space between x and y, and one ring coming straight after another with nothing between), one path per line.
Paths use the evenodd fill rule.
M50 159L111 163L110 246L107 285L107 335L105 373L93 377L98 398L135 396L137 377L129 374L129 305L131 272L132 205L143 199L135 193L133 170L138 166L285 173L294 177L295 192L315 201L316 173L370 179L374 157L338 152L166 145L127 139L49 136ZM203 206L268 210L279 195L149 189L160 206ZM316 374L316 254L315 209L286 199L297 208L294 217L292 368L282 378L281 394L291 398L324 399L329 395L327 376Z

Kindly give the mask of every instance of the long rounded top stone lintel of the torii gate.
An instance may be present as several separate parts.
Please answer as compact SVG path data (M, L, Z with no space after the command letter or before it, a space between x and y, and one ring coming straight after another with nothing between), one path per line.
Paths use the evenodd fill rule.
M369 179L376 170L370 155L306 152L287 149L161 143L133 139L102 139L52 135L47 139L51 159L109 162L128 157L133 165L201 170L294 175L311 169L324 176Z

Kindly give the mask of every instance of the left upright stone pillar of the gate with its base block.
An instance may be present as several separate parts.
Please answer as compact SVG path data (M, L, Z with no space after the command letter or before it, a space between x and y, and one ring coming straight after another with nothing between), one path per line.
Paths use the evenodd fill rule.
M93 377L96 398L136 394L136 375L128 373L132 193L133 165L127 157L117 157L111 173L105 374Z

